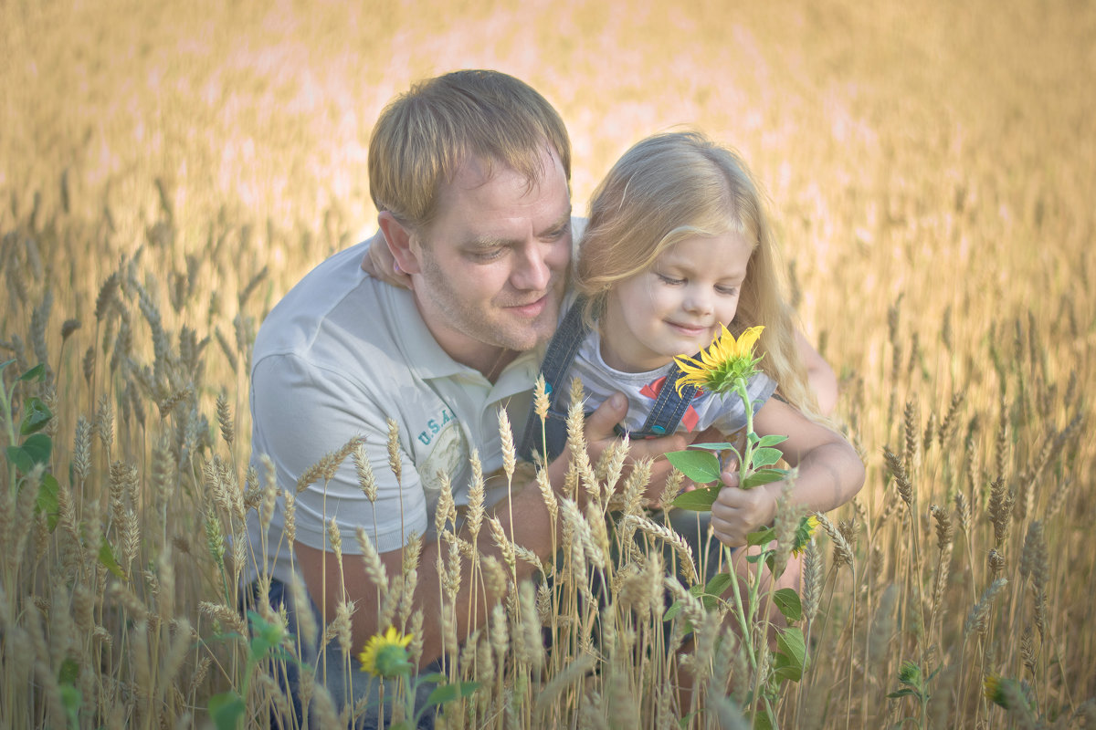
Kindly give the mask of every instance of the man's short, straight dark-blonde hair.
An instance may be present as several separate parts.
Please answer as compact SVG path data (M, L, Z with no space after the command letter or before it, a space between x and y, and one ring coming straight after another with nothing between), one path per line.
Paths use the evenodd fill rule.
M421 81L381 112L369 139L369 193L413 230L437 212L437 193L475 157L533 185L556 151L571 179L571 142L559 114L532 86L499 71L454 71Z

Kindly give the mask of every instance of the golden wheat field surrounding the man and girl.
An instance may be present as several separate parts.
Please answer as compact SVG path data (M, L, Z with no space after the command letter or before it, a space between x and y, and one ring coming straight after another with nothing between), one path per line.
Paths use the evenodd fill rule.
M275 494L248 470L250 346L372 232L384 104L457 68L557 106L576 210L651 132L743 153L868 480L808 554L798 681L595 484L560 506L555 582L468 551L509 594L453 638L448 680L479 685L438 727L1096 727L1096 5L4 0L0 48L0 727L295 725L237 610L232 537ZM412 633L414 555L389 577ZM317 630L353 656L344 618ZM711 640L682 659L686 619Z

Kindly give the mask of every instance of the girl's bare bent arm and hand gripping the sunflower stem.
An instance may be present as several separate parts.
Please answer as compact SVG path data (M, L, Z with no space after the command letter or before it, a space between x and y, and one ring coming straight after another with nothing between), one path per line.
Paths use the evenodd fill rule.
M840 433L810 420L796 408L769 398L754 417L758 436L780 434L785 461L799 468L791 499L810 511L826 512L852 499L864 486L864 462ZM722 473L724 488L711 506L711 529L724 545L746 544L746 535L770 524L784 488L774 482L753 489L739 488L738 472Z

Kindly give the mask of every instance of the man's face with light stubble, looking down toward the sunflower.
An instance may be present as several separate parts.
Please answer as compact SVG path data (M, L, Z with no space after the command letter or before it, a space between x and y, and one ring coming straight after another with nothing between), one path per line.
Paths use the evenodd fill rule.
M412 237L423 320L458 362L484 372L500 348L527 350L556 331L571 257L567 176L547 150L532 184L470 158L442 186L437 217Z

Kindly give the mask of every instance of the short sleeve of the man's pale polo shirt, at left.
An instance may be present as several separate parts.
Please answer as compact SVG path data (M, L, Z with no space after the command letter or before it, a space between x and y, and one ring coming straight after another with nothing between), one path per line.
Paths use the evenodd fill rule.
M330 549L327 525L332 520L345 554L361 553L358 526L380 553L398 549L412 532L424 534L422 482L402 445L399 478L393 474L388 463L388 416L370 393L338 371L288 354L267 356L255 364L251 399L253 453L273 461L279 494L296 490L301 475L324 455L338 452L355 437L364 439L377 485L376 501L363 490L353 454L347 454L333 472L297 493L298 541Z

